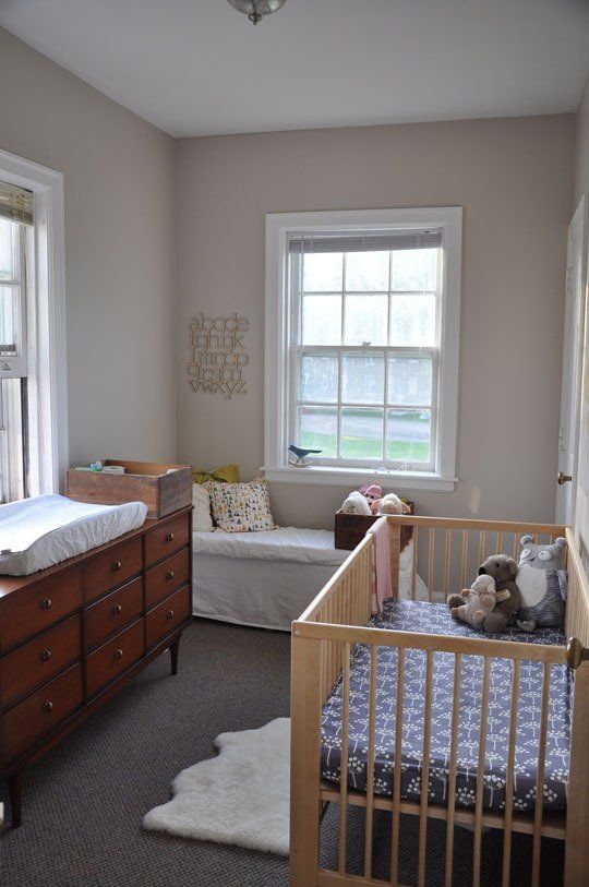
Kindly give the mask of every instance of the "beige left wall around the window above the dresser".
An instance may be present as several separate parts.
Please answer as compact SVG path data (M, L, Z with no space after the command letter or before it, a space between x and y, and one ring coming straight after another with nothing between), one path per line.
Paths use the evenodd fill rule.
M65 187L70 458L176 457L175 143L0 29L0 147Z

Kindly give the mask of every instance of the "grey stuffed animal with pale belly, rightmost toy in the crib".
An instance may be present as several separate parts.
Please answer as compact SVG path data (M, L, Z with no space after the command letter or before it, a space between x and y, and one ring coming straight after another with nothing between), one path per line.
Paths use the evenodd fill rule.
M524 632L542 628L561 628L566 600L566 573L563 551L566 539L556 539L550 546L537 546L531 536L521 537L519 572L516 577L521 595L517 624Z

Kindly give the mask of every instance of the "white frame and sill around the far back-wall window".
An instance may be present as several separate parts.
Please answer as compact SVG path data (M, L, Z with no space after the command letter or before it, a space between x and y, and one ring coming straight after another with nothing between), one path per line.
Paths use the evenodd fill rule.
M443 233L443 291L438 367L437 460L434 471L374 470L358 467L288 465L290 311L288 302L288 237L292 231L375 230L441 227ZM357 209L327 213L271 213L266 215L266 310L264 364L264 471L281 483L347 487L377 479L400 490L454 490L458 424L462 208ZM388 482L387 482L388 481Z

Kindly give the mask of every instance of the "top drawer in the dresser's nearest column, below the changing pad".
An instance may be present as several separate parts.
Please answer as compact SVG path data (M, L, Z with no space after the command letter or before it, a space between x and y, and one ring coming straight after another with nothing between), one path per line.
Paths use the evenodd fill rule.
M0 648L32 637L82 607L82 565L60 570L0 604Z

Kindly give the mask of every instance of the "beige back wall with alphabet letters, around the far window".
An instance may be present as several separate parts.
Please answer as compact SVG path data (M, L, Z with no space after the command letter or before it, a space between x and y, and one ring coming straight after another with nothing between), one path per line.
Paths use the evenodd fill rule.
M460 481L418 510L552 519L574 134L562 115L181 140L179 457L245 478L262 464L265 213L460 205ZM248 395L190 389L200 310L251 319ZM299 526L330 526L342 493L272 486L277 519Z

